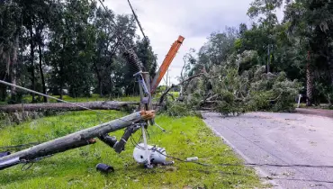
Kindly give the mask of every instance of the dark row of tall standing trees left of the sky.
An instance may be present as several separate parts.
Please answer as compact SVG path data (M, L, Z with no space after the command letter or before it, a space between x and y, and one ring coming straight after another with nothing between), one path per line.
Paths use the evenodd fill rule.
M1 1L0 79L60 98L135 94L124 49L133 48L151 73L157 67L149 41L135 31L134 17L91 0ZM1 101L17 102L21 93L0 85Z

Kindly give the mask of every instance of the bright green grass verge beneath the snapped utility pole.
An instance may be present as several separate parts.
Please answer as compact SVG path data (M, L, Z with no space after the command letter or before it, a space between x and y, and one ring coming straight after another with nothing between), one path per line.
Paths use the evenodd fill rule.
M94 112L68 112L67 114L26 121L16 126L0 129L0 146L44 141L64 136L76 130L94 126L100 121L110 121L125 115L110 113L105 119ZM149 127L149 144L166 148L174 157L200 157L207 164L238 164L241 161L233 151L214 136L196 117L170 118L157 116L157 127ZM0 127L1 128L1 127ZM115 132L117 139L122 130ZM134 138L139 139L140 132ZM255 172L245 166L199 166L175 161L176 170L166 166L144 169L132 158L133 146L116 154L103 142L83 148L68 150L45 158L26 171L21 165L0 171L0 188L254 188L262 187ZM95 170L98 163L112 165L115 172L103 175Z

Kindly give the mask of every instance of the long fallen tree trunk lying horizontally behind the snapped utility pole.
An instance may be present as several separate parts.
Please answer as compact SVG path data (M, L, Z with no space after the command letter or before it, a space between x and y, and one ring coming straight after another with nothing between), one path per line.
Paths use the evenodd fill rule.
M117 110L133 108L139 105L139 102L87 102L87 103L76 103L77 105L93 109L93 110ZM69 103L23 103L13 105L2 105L0 106L0 112L44 112L44 111L83 111L85 109L77 107L76 105Z

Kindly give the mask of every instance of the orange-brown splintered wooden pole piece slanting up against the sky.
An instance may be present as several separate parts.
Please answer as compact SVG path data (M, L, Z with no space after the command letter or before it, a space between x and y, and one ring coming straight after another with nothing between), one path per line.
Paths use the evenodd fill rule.
M166 58L163 60L161 67L159 67L157 74L151 83L151 90L150 90L151 94L153 94L156 91L157 86L161 82L163 76L166 74L167 68L170 66L172 60L175 58L175 54L178 52L178 49L182 45L183 41L184 41L184 37L179 36L178 40L175 40L174 44L171 46L171 48L167 52Z

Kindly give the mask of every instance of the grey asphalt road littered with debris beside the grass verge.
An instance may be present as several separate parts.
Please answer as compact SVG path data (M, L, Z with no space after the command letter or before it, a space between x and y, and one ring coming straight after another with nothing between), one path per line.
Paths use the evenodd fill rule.
M272 112L202 116L245 163L258 164L258 174L275 188L333 188L333 118Z

